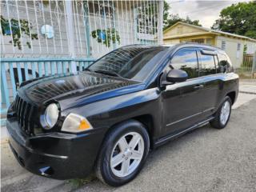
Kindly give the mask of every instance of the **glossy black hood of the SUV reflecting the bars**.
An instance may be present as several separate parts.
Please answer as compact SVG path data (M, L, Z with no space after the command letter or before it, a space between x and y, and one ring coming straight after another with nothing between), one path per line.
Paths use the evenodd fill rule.
M62 110L65 110L141 89L142 82L82 72L32 80L22 85L18 94L25 94L26 98L38 105L57 101Z

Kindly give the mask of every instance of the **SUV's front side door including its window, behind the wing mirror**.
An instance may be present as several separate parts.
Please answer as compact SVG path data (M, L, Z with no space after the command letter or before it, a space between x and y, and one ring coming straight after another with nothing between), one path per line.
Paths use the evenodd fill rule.
M204 83L198 77L197 49L179 50L171 58L170 65L174 69L185 70L188 74L186 82L168 85L162 92L162 115L166 134L175 134L202 120Z

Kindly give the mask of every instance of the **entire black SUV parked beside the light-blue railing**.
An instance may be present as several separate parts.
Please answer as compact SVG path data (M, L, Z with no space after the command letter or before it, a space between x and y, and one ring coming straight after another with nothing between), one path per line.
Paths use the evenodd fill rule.
M150 149L210 122L226 126L238 97L230 58L211 46L123 46L78 74L23 82L8 110L10 147L34 174L95 170L120 186Z

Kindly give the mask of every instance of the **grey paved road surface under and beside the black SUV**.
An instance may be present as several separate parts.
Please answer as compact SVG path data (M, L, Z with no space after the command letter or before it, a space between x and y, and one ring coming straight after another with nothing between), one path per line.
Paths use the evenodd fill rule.
M256 191L256 99L233 110L224 130L203 126L150 153L133 182L119 188L97 179L79 188L30 174L2 144L2 191Z

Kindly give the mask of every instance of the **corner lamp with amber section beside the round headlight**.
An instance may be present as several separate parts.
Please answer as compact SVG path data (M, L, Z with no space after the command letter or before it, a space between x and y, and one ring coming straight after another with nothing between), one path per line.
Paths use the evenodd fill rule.
M72 133L78 133L90 129L93 129L93 127L90 125L90 122L78 114L67 115L62 125L62 131Z

